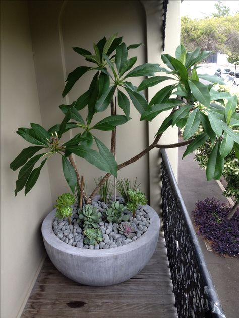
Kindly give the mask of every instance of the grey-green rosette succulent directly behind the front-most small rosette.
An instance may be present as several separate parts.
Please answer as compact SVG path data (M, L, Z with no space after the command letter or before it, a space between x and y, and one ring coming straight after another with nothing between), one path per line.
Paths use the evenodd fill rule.
M100 217L101 217L101 213L97 212L97 207L91 204L87 204L79 212L78 222L83 223L84 230L86 230L88 227L98 228Z

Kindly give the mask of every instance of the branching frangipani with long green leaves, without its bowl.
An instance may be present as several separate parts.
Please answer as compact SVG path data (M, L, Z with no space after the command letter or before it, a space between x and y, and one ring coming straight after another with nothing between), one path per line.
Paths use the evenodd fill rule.
M136 162L153 148L172 148L188 144L185 156L209 139L213 147L207 162L207 179L220 178L224 158L232 148L237 155L239 152L237 130L239 114L235 112L237 97L231 96L228 92L218 92L213 88L215 83L223 83L221 78L197 73L197 64L210 52L200 51L200 49L186 52L184 46L180 45L176 49L176 57L169 54L161 55L166 68L150 63L135 67L137 57L128 58L128 51L140 45L127 46L122 41L122 37L114 34L108 39L103 37L98 43L93 44L93 52L80 47L73 48L77 54L89 62L89 66L79 66L68 75L63 97L86 73L92 74L91 84L76 101L70 105L59 106L64 113L61 123L54 124L48 130L36 123L31 123L30 128L18 129L17 134L33 145L23 149L10 164L13 170L22 167L16 181L15 195L24 187L25 194L32 189L42 167L53 155L62 157L63 173L72 192L74 193L76 186L82 189L80 173L73 158L75 154L106 172L91 194L87 195L82 190L85 204L91 204L94 196L110 175L116 178L119 169ZM139 86L133 85L131 80L139 76L144 76L145 79ZM201 80L207 80L208 84L203 84ZM165 82L164 87L150 101L147 101L145 90L160 82ZM118 164L115 161L116 127L124 125L131 119L130 101L140 113L141 121L151 122L162 112L170 111L170 113L158 127L154 140L146 149ZM83 118L81 110L85 107L88 108L88 115ZM105 116L92 125L92 118L97 113L106 111L108 107L110 107L111 115ZM118 108L122 109L124 115L117 114ZM200 124L203 128L202 132L193 138ZM159 143L161 136L167 134L167 128L174 125L184 128L185 141L161 145ZM70 129L76 131L75 136L63 142L63 134ZM110 148L97 137L98 130L111 132ZM96 144L98 151L92 149L93 143ZM36 154L39 151L41 153ZM39 165L34 168L37 162Z

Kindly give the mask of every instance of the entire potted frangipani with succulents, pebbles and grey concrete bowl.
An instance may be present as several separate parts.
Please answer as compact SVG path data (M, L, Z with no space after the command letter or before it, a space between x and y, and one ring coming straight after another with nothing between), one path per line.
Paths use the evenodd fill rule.
M43 222L42 234L54 265L69 278L83 284L105 286L129 279L146 265L156 247L159 232L157 213L145 205L144 194L136 184L130 185L128 180L118 181L117 184L113 181L114 195L110 200L107 180L111 175L117 178L117 170L139 160L153 148L188 144L186 155L210 138L214 147L207 163L207 178L219 179L228 151L232 147L237 153L239 150L238 132L234 131L234 127L238 126L238 114L235 112L237 98L227 95L225 100L224 95L213 89L214 83L222 83L217 76L197 74L196 65L210 53L199 49L187 53L180 45L176 58L162 54L167 69L149 63L134 67L137 57L128 59L128 51L139 45L127 46L122 42L122 37L115 34L94 44L93 54L74 47L74 51L93 66L77 67L68 75L63 97L87 72L93 76L89 89L71 105L59 106L65 115L61 124L46 130L39 124L31 123L31 128L19 128L17 131L34 146L25 148L10 165L13 170L22 167L16 181L15 195L24 186L25 194L31 190L49 157L62 157L63 173L72 193L76 192L77 203L74 205L71 194L60 196L56 209ZM158 72L167 75L154 76ZM129 79L137 76L145 76L146 79L139 86L134 86ZM200 78L209 81L209 84L201 83ZM168 80L170 84L159 90L148 103L144 90ZM172 94L176 98L172 98ZM170 114L159 127L150 146L117 164L116 126L131 119L130 100L141 114L140 120L152 121L163 111L170 110ZM93 116L104 112L109 105L111 115L92 125ZM80 111L85 107L88 107L88 115L83 119ZM117 114L118 107L124 115ZM200 124L202 133L192 138ZM160 145L162 134L173 125L184 128L185 141ZM64 143L62 135L69 129L74 129L76 134ZM111 132L110 149L98 139L97 130ZM91 148L93 142L98 151ZM44 148L46 152L42 152ZM41 153L36 154L38 151ZM84 177L77 170L73 154L106 172L89 195L84 190ZM34 168L38 161L40 165ZM116 185L125 200L116 197ZM99 198L95 199L99 190L104 194L104 200L109 199L107 204Z

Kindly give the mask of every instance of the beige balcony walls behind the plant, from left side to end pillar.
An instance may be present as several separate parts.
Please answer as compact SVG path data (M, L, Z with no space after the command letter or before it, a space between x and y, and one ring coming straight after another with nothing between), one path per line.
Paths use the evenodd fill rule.
M167 53L173 54L179 42L180 1L169 1L167 13ZM17 173L9 163L27 147L20 136L14 134L18 127L28 127L29 122L42 123L49 128L61 122L58 109L62 104L61 93L66 74L79 65L83 58L74 53L72 46L92 50L92 41L114 32L123 35L127 44L144 42L145 47L131 50L138 55L137 64L160 63L161 11L158 0L128 1L76 1L30 0L2 1L1 3L1 317L15 318L34 282L35 274L44 255L40 224L57 196L69 191L62 174L61 158L52 158L44 167L39 181L24 196L14 198ZM102 18L103 17L103 18ZM29 23L30 19L30 23ZM43 23L44 22L44 23ZM170 25L173 28L170 29ZM136 78L139 84L141 78ZM89 78L75 86L64 102L68 103L87 88ZM158 86L157 88L160 88ZM150 88L149 98L156 93ZM119 112L120 113L120 112ZM98 120L102 114L97 115ZM125 127L118 127L117 161L121 163L137 154L152 142L164 117L149 126L139 122L139 114L132 107L134 119ZM107 132L99 137L109 146ZM69 134L66 134L66 138ZM130 137L130 138L129 138ZM127 146L120 144L120 139ZM131 140L129 140L131 139ZM164 143L177 140L172 130ZM170 159L176 173L177 155L171 151ZM137 163L120 172L120 177L138 177L141 188L158 210L158 150L141 158ZM80 163L80 173L87 179L102 173L87 163ZM87 189L93 183L88 181ZM150 191L149 191L150 190ZM52 198L52 201L51 201ZM29 226L31 222L31 226ZM20 225L21 224L21 225ZM16 233L9 236L9 227ZM27 238L24 235L27 233Z

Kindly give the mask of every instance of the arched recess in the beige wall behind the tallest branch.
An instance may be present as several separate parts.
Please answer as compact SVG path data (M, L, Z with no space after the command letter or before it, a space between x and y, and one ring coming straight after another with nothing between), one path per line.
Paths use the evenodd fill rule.
M108 38L116 32L118 36L123 36L127 45L132 43L146 44L147 42L145 11L138 0L113 2L69 0L63 5L60 21L63 65L66 67L67 74L79 65L89 66L89 62L85 62L83 57L72 50L74 46L93 51L93 43L97 43L103 36ZM136 65L147 62L145 46L129 51L129 57L135 55L138 56ZM88 89L94 73L92 71L89 75L84 75L75 84L68 96L70 103ZM134 84L138 85L141 81L142 78L135 78ZM121 109L118 110L118 113L122 113ZM86 118L87 109L81 111L81 114L83 114L83 118ZM109 110L106 114L110 115ZM105 113L96 114L92 123L102 119L102 116L105 116ZM147 124L139 121L140 114L133 105L131 117L132 119L127 124L117 127L116 160L118 163L134 156L148 144ZM96 133L100 140L110 147L110 132L93 131L93 133ZM93 179L104 175L104 173L82 159L76 158L76 162L80 174L83 174L87 179L87 191L89 192L94 187ZM145 156L140 161L120 171L119 177L127 177L132 180L137 177L138 181L141 182L142 191L149 194L148 157Z

